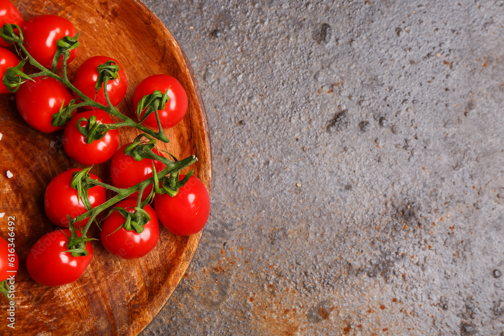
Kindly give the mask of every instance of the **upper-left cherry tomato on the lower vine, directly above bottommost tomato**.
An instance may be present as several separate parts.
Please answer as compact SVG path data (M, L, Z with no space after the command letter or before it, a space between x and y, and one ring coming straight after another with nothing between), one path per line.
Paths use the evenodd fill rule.
M68 228L67 214L72 218L84 214L87 210L82 200L79 201L77 197L77 190L72 188L73 173L81 171L80 168L72 168L56 175L45 188L44 194L44 208L45 214L50 221L62 228ZM91 178L101 180L95 174L89 174ZM88 198L91 208L95 208L100 204L105 203L106 192L105 188L96 185L88 189ZM88 222L88 218L80 222L83 226ZM75 223L79 227L79 223Z

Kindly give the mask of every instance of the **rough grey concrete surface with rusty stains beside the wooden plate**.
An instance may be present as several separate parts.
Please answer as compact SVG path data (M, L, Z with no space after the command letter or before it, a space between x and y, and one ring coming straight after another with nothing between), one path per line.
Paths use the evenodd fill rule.
M142 335L504 334L504 1L146 4L214 180Z

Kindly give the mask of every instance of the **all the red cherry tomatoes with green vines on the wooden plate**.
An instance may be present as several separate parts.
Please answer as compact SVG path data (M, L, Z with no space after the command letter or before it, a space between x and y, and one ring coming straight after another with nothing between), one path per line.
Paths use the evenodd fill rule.
M76 162L92 166L111 160L112 185L90 173L91 167L62 171L48 183L45 213L60 229L47 232L30 249L26 267L32 279L46 286L77 280L92 260L91 241L97 240L86 234L105 210L101 243L124 259L143 257L155 248L159 222L176 235L201 231L210 214L207 189L192 170L180 174L196 157L177 160L156 149L156 140L168 141L163 129L186 114L182 85L165 74L145 78L130 106L137 117L133 120L116 108L128 88L120 60L90 57L70 81L67 64L82 46L80 32L69 20L38 15L25 22L8 0L0 0L0 13L5 13L0 14L0 94L15 93L18 111L31 127L62 131L65 152ZM143 133L119 148L119 128L124 126ZM115 195L107 198L106 189ZM0 238L0 282L7 279L4 263L13 248ZM17 270L17 254L15 261Z

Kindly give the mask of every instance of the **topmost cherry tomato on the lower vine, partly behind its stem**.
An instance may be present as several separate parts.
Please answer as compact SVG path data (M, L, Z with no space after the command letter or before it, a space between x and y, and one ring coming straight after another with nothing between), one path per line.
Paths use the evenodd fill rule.
M143 159L141 161L135 161L132 156L124 154L124 148L130 144L125 144L115 152L112 157L112 162L110 163L110 178L112 179L112 185L118 188L129 188L151 178L153 161L157 172L166 168L166 165L158 160ZM152 151L164 157L156 148L153 148ZM142 199L147 198L151 191L152 184L144 189ZM138 191L129 195L128 198L138 198Z

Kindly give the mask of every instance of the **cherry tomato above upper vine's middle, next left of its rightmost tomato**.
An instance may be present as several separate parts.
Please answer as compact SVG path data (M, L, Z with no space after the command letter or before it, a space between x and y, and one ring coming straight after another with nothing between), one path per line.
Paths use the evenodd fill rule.
M110 98L112 105L115 106L119 104L122 98L124 98L126 89L128 87L128 79L126 78L126 74L124 73L124 70L122 70L119 62L115 59L106 56L94 56L88 58L84 61L84 63L81 64L81 66L79 66L79 69L77 69L72 84L89 98L94 98L95 102L108 106L107 100L105 99L105 93L103 91L103 84L101 85L101 89L98 91L96 97L95 86L96 81L98 80L98 65L103 64L109 60L114 61L114 63L119 66L120 80L118 77L115 80L109 80L107 83L108 98ZM74 97L79 98L79 95L74 92ZM93 107L91 106L84 106L83 108L87 110L93 109Z

